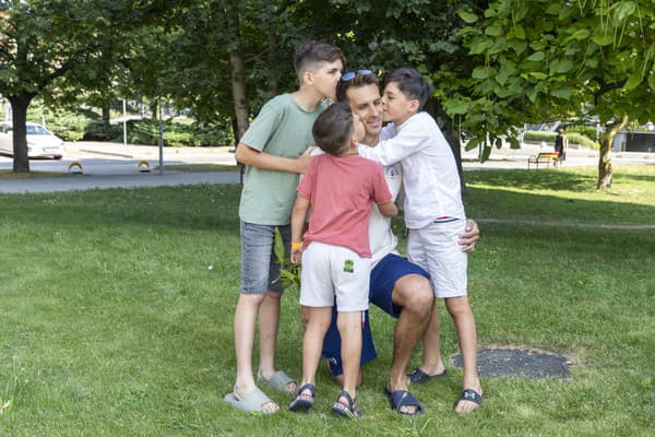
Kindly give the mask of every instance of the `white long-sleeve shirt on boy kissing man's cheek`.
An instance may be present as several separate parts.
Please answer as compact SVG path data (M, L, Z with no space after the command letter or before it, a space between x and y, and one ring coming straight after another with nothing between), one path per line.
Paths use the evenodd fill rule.
M360 144L358 152L384 166L402 164L408 228L441 217L466 218L455 157L429 114L418 113L398 127L390 123L380 137L376 147Z

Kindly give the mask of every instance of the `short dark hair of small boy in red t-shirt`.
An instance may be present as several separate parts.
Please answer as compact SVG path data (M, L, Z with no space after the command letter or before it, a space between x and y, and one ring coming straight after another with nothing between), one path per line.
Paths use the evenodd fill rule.
M353 110L343 103L333 103L321 113L311 128L314 141L325 153L338 156L349 146L353 126Z

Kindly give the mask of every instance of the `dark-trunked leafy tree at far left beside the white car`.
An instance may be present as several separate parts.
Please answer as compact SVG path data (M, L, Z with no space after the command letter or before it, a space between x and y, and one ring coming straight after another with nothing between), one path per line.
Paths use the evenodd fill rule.
M0 1L0 92L13 114L14 172L29 172L26 113L35 96L70 97L108 86L121 38L164 16L170 2L152 0Z

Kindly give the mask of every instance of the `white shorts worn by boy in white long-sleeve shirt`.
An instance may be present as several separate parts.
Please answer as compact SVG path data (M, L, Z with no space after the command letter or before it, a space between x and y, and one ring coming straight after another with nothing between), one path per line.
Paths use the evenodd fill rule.
M462 251L460 235L466 221L436 222L420 229L410 229L407 258L430 273L437 297L466 296L468 256Z

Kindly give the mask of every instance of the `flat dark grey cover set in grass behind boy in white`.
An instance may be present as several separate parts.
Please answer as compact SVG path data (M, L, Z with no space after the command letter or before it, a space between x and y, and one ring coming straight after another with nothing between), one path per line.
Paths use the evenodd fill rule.
M453 355L453 366L462 368L462 356ZM522 349L481 349L477 355L480 376L513 376L525 378L568 379L573 365L564 356Z

